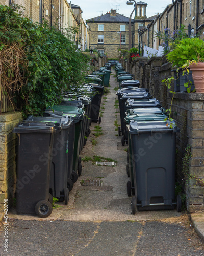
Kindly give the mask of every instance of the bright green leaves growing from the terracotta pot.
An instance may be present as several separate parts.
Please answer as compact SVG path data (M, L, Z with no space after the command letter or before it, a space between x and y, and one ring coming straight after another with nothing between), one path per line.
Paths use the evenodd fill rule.
M187 67L189 62L204 61L204 42L199 38L182 39L173 51L167 54L173 66Z

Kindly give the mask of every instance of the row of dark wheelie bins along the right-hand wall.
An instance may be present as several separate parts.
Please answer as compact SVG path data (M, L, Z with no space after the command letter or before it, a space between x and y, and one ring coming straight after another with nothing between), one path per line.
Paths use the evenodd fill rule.
M123 84L124 86L123 86ZM169 120L160 101L139 81L124 80L117 96L120 109L118 135L127 144L127 196L132 195L136 210L181 211L181 198L175 198L175 140L179 128Z

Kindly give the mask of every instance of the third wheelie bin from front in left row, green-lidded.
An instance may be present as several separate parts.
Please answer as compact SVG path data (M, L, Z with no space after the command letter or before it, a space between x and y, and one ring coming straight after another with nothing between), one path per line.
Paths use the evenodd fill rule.
M46 109L44 116L69 116L73 119L75 125L75 136L74 136L74 151L73 151L73 171L81 176L82 174L82 164L80 154L80 140L82 137L82 125L84 123L84 110L82 108L74 108L73 106L66 105L66 102L61 102L62 105L53 106L52 109ZM64 104L64 105L63 105ZM53 112L54 110L54 112ZM72 180L75 180L73 177L75 175L73 172L71 176L67 179L67 187L69 191L73 187ZM75 175L76 176L76 175ZM70 181L71 179L71 181Z

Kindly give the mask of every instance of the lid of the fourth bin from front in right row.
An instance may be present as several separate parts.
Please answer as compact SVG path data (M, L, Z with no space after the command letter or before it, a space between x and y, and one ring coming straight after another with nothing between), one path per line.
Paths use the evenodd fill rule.
M147 99L143 101L138 101L135 99L127 99L126 106L127 108L134 109L134 108L150 108L150 107L154 108L155 106L159 108L161 105L159 100L157 100L156 98L152 98L152 99Z

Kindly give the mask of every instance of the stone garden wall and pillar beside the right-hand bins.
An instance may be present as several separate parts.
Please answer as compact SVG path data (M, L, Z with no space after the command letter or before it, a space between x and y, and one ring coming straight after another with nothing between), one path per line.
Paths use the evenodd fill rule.
M161 82L173 74L172 67L165 57L153 57L149 60L140 57L130 64L124 62L124 66L140 81L141 87L148 88L164 108L170 108L173 94ZM176 92L172 101L172 118L180 128L176 138L176 179L185 189L189 212L204 210L204 187L198 184L199 179L204 179L203 100L204 94ZM187 145L191 147L192 157L184 162ZM183 175L184 163L188 166L188 162L189 174L195 178L186 180Z

